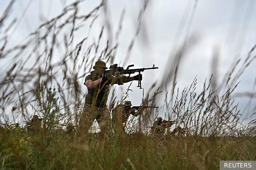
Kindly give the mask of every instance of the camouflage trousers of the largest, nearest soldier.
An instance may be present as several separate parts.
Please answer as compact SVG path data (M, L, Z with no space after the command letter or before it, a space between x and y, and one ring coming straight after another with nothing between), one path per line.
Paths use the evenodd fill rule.
M97 108L96 106L84 104L83 112L79 121L79 136L86 135L93 125L94 120L99 124L100 136L112 137L111 118L107 106ZM104 138L105 138L104 137Z

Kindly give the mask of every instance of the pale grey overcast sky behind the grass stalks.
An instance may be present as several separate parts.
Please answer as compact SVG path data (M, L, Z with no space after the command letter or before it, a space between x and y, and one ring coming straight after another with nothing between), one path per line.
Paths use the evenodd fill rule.
M1 13L8 2L0 1ZM13 18L17 19L15 27L9 33L12 34L12 43L9 45L22 41L40 24L60 14L64 6L72 2L73 0L17 0L8 18L9 22ZM79 13L87 14L100 2L85 0L79 6ZM209 79L212 74L213 56L219 56L215 76L217 84L220 85L233 61L238 58L245 59L256 44L255 0L149 0L142 16L140 33L136 37L138 16L143 4L142 0L107 0L106 7L99 12L87 44L98 38L102 25L107 25L109 27L108 34L104 37L105 42L108 39L112 47L117 42L119 45L115 61L108 62L108 66L118 63L124 68L131 64L135 65L134 68L152 67L153 64L158 67L158 70L143 72L142 87L145 94L153 82L158 82L159 85L160 82L169 82L169 77L164 76L165 71L173 66L175 53L182 48L185 39L188 39L189 43L181 59L177 85L183 89L197 77L199 92L205 79ZM122 14L122 29L117 37ZM76 34L76 41L81 41L85 36L87 30L82 29ZM134 38L133 49L127 57L129 45ZM253 52L253 55L255 54ZM239 79L241 82L236 94L254 91L255 66L256 61L253 61ZM128 99L133 105L140 105L143 90L136 86L137 82L133 82L133 92L130 92ZM119 93L127 87L128 85L118 87ZM84 86L84 93L86 91ZM249 100L238 95L234 99L240 103L240 109L244 109ZM158 104L162 105L163 101ZM250 113L255 112L255 104L253 100Z

